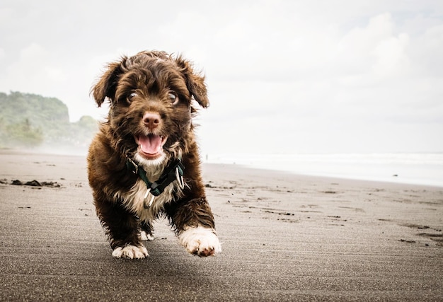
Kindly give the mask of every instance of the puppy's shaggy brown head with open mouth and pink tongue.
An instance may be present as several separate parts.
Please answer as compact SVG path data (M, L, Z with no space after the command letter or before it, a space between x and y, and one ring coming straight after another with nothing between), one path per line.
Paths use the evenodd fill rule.
M115 148L146 164L181 156L193 141L192 117L209 105L205 78L183 57L139 52L108 65L91 93L110 102L108 133Z

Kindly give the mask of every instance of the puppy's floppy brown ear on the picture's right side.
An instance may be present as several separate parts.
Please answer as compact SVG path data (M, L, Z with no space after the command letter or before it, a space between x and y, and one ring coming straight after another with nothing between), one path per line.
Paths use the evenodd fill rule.
M176 64L180 67L181 72L185 76L186 86L188 86L188 91L194 96L197 103L203 108L209 106L209 100L207 98L207 89L205 85L205 76L197 74L190 62L179 56L176 59Z

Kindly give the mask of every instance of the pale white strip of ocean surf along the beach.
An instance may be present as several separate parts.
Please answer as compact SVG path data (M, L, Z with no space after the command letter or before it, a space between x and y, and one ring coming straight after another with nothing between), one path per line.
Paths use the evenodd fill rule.
M208 154L207 163L443 187L443 153Z

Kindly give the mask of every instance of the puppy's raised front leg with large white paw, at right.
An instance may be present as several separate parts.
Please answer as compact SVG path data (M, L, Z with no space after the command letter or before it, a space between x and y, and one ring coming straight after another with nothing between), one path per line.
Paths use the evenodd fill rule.
M180 243L188 252L200 257L222 252L214 229L214 216L205 198L170 204L166 211Z

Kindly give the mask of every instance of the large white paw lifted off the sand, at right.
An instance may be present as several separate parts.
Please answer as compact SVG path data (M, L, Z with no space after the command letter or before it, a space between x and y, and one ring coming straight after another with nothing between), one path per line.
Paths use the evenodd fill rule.
M222 245L220 245L219 238L217 238L212 228L202 226L191 228L188 226L185 231L178 235L178 239L186 250L193 255L206 257L222 252Z

